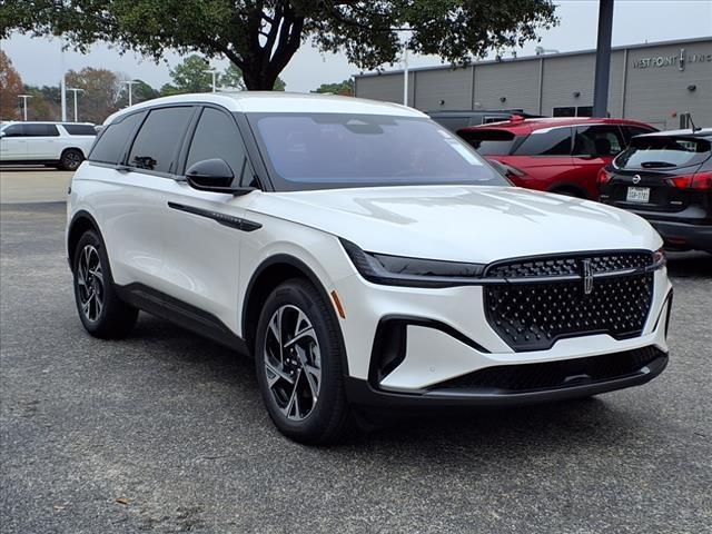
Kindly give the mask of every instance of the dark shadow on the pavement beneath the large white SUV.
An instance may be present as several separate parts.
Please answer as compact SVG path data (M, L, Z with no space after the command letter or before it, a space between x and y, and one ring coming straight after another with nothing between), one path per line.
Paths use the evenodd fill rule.
M261 411L261 414L250 414L257 415L250 417L251 421L271 426L259 398L249 356L146 314L141 314L135 332L123 343L131 340L140 345L149 342L151 349L145 355L169 363L171 369L187 375L185 380L209 380L231 389L230 395L235 395L236 405L241 409ZM610 428L620 433L621 428L636 426L627 421L630 413L616 409L602 397L516 408L438 408L386 416L360 415L366 432L350 433L329 451L352 455L374 448L412 448L413 454L428 451L433 457L452 454L453 447L478 449L478 454L491 449L497 455L502 455L502 448L514 454L532 446L551 452L560 447L587 446L592 441L607 442L612 438ZM266 435L270 439L286 441L276 429Z

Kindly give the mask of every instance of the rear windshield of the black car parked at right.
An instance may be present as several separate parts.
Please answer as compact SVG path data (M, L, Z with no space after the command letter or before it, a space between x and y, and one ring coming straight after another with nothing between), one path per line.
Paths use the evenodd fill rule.
M710 157L704 139L645 136L634 138L631 147L615 159L620 169L653 169L700 165Z

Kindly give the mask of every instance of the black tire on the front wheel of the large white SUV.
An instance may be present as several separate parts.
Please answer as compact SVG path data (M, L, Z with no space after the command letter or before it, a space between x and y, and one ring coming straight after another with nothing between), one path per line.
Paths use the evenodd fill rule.
M291 387L290 383L285 378L277 378L273 387L268 385L268 364L266 360L271 356L266 356L266 354L276 356L277 352L275 348L277 347L275 345L275 330L270 329L269 325L270 320L277 317L280 310L283 314L279 316L283 319L280 322L283 332L290 329L291 325L296 325L294 327L295 333L309 330L308 328L301 328L300 330L299 325L306 326L310 323L313 327L310 335L305 334L305 337L300 337L300 346L295 344L289 349L281 349L280 355L284 358L283 365L278 369L281 375L269 372L273 379L277 376L289 375L289 373L291 373L293 380L296 377L291 395L296 397L298 403L295 403L296 411L293 415L289 415L291 413L289 408L291 397L288 393L283 397L279 396L280 387L288 389ZM305 316L303 323L299 323L301 316L298 315L298 312ZM293 317L290 318L289 315ZM296 323L293 323L294 316L297 317ZM280 284L267 297L259 317L254 353L259 390L267 412L279 432L299 443L310 445L336 443L345 436L352 426L350 411L344 392L342 362L345 358L345 354L339 342L338 324L336 322L336 315L329 303L324 300L312 284L299 278ZM269 334L268 329L270 329ZM289 335L286 338L288 339ZM315 353L319 355L320 378L318 380L317 400L313 403L313 396L309 396L309 392L314 392L313 382L315 376L307 372L305 363L312 362L313 365L316 365L315 360L310 359L314 356L312 353L315 344ZM269 353L267 353L268 347L271 347ZM296 348L297 354L300 354L300 356L294 355L293 348ZM290 360L289 350L293 354L291 358L294 359L291 362L294 365L288 365ZM274 362L276 363L277 358ZM291 372L287 370L289 368ZM297 386L299 386L299 392L306 392L306 395L300 395L299 392L295 394ZM289 397L289 402L287 402L287 397ZM283 398L281 406L279 398ZM284 404L287 404L287 406L285 407ZM303 408L305 415L301 419L295 421L301 415L299 414L300 408ZM310 409L307 412L306 408Z

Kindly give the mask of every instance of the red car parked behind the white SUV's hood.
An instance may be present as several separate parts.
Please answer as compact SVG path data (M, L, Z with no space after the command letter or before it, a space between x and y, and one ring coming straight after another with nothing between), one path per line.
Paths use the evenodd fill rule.
M481 155L500 166L514 185L596 200L599 170L631 137L656 131L627 119L513 117L457 130Z

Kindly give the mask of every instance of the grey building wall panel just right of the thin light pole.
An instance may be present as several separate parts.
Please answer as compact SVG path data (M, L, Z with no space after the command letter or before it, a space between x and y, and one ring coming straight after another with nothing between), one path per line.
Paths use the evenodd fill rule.
M441 100L444 103L439 103ZM469 109L472 68L415 72L415 107L423 111Z

